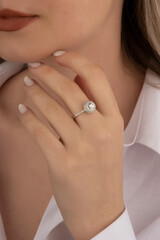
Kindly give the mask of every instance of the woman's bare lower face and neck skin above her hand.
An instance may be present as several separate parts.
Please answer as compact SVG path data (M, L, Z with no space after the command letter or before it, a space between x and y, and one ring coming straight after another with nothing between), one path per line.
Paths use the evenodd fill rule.
M30 0L23 2L23 8L18 0L2 4L3 8L8 6L11 9L37 14L40 19L17 32L0 32L0 55L8 61L26 63L41 60L74 79L75 73L59 67L50 55L59 49L77 50L104 69L127 126L144 76L140 76L135 66L124 62L122 57L120 22L123 1L84 0L77 3L74 0L41 0L37 6L36 2ZM23 91L21 86L19 88ZM24 93L21 95L24 96ZM131 100L126 101L126 98ZM7 107L10 105L5 104ZM13 108L12 106L15 114L16 110Z

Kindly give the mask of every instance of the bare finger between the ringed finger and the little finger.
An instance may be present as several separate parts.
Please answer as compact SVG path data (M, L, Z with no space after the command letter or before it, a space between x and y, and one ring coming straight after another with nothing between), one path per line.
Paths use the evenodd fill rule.
M49 96L39 84L33 82L31 86L24 85L27 96L55 128L64 145L73 145L76 137L79 136L80 128L55 99Z

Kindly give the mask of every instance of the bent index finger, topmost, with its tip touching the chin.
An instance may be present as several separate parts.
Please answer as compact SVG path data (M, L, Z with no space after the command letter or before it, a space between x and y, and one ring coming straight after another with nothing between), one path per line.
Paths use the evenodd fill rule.
M85 81L99 112L104 116L119 112L116 98L103 69L80 53L71 51L54 57L56 62L75 71Z

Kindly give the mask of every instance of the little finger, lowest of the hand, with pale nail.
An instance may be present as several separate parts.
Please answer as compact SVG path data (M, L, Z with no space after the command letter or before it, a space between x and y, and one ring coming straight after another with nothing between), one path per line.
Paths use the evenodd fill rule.
M18 108L19 111L24 110L23 104L19 104ZM49 163L52 163L56 166L58 162L64 159L64 145L35 116L30 108L26 106L25 108L27 111L25 113L23 111L23 114L19 114L22 125L27 130L32 139L36 141L47 160L49 160Z

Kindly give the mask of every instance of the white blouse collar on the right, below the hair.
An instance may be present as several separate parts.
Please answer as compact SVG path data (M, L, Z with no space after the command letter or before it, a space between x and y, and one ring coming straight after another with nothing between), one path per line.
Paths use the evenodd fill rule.
M149 68L124 131L124 147L135 143L143 144L160 154L160 76Z

